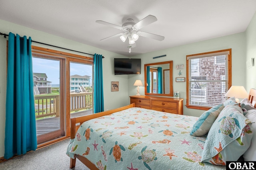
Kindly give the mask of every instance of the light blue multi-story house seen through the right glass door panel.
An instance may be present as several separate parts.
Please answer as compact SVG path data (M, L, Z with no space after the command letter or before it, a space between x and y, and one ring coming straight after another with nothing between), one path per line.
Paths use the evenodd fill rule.
M91 76L80 76L77 74L70 76L70 92L75 92L75 90L86 92L85 87L91 86L90 77Z

